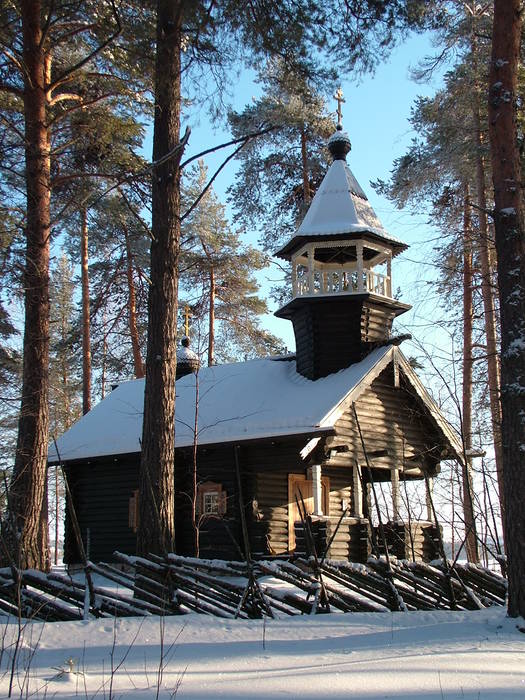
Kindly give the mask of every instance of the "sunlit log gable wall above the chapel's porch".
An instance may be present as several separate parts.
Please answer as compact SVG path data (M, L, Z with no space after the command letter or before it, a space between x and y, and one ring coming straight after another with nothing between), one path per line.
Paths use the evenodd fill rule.
M403 469L407 476L435 473L447 450L428 408L402 373L390 363L355 401L364 443L374 467ZM327 441L333 450L327 464L364 465L365 458L352 405L335 422Z

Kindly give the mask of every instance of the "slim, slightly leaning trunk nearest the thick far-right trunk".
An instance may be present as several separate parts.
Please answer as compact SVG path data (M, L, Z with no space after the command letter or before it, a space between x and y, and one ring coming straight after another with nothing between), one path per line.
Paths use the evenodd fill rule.
M477 79L478 44L475 16L476 13L474 8L472 13L471 56L476 82L474 84L474 89L472 90L471 104L474 121L474 143L476 146L476 190L479 221L478 251L481 264L481 295L483 299L483 316L485 322L485 338L487 343L487 376L489 386L492 439L494 441L494 457L496 460L496 473L498 477L499 501L501 507L501 517L503 519L505 505L503 496L503 453L501 448L501 382L497 343L497 319L494 300L495 290L493 287L492 274L493 265L491 260L491 242L486 213L486 178L485 165L483 162L483 138L481 134L480 85Z

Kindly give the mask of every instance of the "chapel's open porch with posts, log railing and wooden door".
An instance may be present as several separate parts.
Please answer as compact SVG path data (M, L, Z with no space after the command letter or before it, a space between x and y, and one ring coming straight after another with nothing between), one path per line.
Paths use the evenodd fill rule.
M343 499L341 512L334 514L326 471L323 474L322 465L318 464L309 467L302 477L289 475L291 553L311 553L305 531L308 527L318 555L326 552L332 559L364 563L371 554L382 555L385 550L398 559L412 561L428 562L440 556L432 508L433 477L418 479L416 488L424 505L411 512L402 497L402 488L406 479L414 490L413 476L400 469L368 470L358 465L352 472L351 496L348 501Z

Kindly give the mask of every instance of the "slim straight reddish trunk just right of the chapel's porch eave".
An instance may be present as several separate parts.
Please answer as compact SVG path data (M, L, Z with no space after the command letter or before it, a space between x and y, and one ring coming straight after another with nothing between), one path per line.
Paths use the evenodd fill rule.
M463 516L467 559L479 561L472 489L472 225L468 185L463 204Z

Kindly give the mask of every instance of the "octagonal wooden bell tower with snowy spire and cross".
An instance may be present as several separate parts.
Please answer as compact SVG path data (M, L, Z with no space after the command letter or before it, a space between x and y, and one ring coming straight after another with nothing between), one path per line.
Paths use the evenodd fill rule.
M332 164L310 208L276 255L291 262L292 300L276 311L293 323L297 371L318 379L363 359L391 338L410 306L392 298L392 259L408 246L388 234L346 163L341 124L328 141Z

